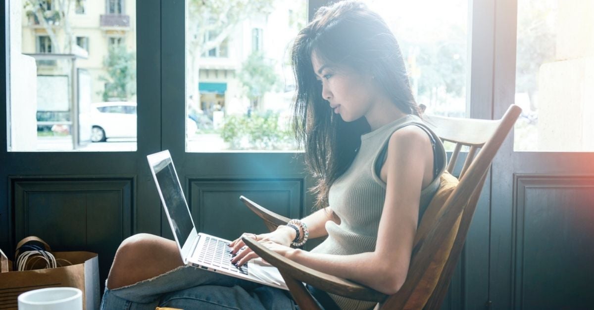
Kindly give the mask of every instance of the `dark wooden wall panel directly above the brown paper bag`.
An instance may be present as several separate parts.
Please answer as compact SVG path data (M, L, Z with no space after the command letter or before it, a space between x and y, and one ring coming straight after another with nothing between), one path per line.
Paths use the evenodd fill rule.
M14 242L35 235L53 251L99 254L100 283L132 234L134 178L11 178Z

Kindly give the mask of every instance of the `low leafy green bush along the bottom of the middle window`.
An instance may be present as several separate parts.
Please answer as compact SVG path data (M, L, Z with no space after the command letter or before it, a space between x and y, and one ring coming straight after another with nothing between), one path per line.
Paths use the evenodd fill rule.
M221 136L232 149L296 149L288 126L279 124L279 113L266 111L247 115L230 115L225 119Z

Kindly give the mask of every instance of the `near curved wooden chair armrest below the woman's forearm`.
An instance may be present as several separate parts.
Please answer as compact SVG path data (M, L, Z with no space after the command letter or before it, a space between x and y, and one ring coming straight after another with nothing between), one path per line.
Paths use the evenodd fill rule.
M327 293L372 302L382 302L387 298L387 295L380 293L377 290L311 269L296 263L295 261L289 260L289 258L268 250L259 242L254 241L254 239L242 238L242 240L252 251L260 255L263 260L266 260L274 267L277 267L282 274L287 274L296 280L308 283Z

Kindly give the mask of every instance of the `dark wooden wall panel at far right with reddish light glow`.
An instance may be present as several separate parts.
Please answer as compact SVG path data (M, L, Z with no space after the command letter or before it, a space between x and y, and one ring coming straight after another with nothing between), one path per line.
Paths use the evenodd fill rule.
M594 176L516 175L516 309L594 304Z

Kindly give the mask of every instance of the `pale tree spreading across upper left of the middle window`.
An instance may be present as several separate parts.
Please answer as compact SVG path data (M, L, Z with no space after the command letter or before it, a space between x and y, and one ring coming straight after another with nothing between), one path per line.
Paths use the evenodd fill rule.
M274 0L189 0L188 46L186 47L189 95L196 98L195 100L200 98L198 92L200 56L220 46L232 30L246 18L252 15L269 14L273 2Z

